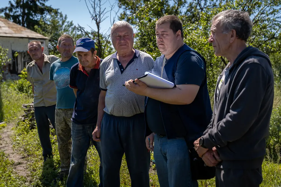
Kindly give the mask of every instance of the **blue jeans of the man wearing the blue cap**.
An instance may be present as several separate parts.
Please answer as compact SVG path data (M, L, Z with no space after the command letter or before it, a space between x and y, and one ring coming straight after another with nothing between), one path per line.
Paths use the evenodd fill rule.
M88 148L90 147L90 141L93 142L96 150L98 151L98 156L100 157L100 184L98 186L102 187L102 158L100 142L95 142L92 138L92 132L95 128L95 125L78 125L73 122L71 124L72 150L69 175L66 183L67 187L83 186L85 158L87 156Z

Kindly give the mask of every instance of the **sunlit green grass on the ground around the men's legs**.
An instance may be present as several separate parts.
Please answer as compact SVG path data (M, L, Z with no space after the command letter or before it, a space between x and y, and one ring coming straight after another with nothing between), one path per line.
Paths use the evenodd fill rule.
M12 83L2 85L1 93L3 98L3 111L4 120L8 122L14 122L19 115L22 114L22 104L31 103L32 99L26 94L19 94L15 89L12 89ZM276 91L278 93L278 91ZM280 96L276 94L276 96ZM280 104L280 100L277 98L274 100L276 106ZM1 128L1 127L0 127ZM5 128L5 124L2 125ZM57 177L60 171L60 159L58 154L58 146L56 136L54 136L54 129L51 130L51 143L53 147L54 157L48 159L47 163L43 164L42 148L38 138L37 129L29 129L29 124L24 122L17 123L13 129L14 135L12 136L12 142L15 150L18 154L21 154L28 162L28 171L30 172L25 178L16 174L13 170L13 161L7 159L7 155L0 152L0 187L43 187L53 186L62 187L65 186L66 178L62 182L55 183L54 178ZM153 159L153 155L151 157ZM88 150L88 167L87 174L84 175L85 187L92 187L99 184L98 169L99 169L99 157L95 148L92 146ZM160 187L155 170L155 165L152 166L150 172L150 185L151 187ZM126 166L126 159L123 157L121 170L120 170L120 182L121 187L129 187L130 175ZM261 187L277 187L281 185L281 165L268 161L263 163L263 183ZM200 187L215 187L215 180L199 181Z

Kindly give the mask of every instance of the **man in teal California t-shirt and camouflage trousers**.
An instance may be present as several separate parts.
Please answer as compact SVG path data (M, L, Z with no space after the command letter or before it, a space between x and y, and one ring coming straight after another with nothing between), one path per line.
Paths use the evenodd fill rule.
M55 112L58 152L60 154L60 177L68 176L71 158L71 117L75 102L73 90L69 87L71 67L78 62L72 56L74 41L70 35L62 35L58 39L58 51L61 58L50 68L50 80L54 81L57 90L57 105Z

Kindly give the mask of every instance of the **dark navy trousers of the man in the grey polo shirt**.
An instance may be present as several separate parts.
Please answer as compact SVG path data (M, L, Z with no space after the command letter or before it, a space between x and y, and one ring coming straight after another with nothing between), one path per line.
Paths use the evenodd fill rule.
M103 187L120 186L125 153L132 187L149 187L150 152L145 145L143 113L132 117L104 114L100 131Z

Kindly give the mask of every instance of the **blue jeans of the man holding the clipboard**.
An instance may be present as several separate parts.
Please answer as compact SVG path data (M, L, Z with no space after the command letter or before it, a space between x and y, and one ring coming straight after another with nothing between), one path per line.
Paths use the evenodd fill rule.
M191 180L189 150L184 138L154 136L154 159L160 187L198 187Z

